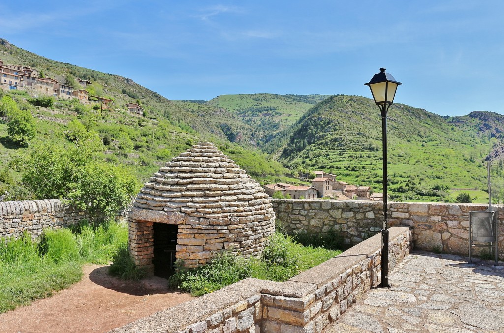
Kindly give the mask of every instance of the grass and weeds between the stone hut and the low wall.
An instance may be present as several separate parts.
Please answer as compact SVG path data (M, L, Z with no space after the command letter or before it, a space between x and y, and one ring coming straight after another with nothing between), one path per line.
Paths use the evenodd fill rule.
M202 267L186 270L179 266L170 284L200 296L246 278L282 282L340 253L302 246L290 236L275 233L259 258L221 252Z

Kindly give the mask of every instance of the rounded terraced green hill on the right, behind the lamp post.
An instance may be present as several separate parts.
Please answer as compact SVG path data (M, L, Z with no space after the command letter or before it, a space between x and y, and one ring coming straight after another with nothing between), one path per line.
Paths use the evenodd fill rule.
M502 142L501 136L489 133L498 132L504 118L491 114L494 125L488 126L484 119L490 114L445 119L393 105L388 118L392 197L436 201L453 187L484 189L484 160L492 146ZM331 96L272 144L287 168L326 170L346 182L382 189L381 117L369 98Z

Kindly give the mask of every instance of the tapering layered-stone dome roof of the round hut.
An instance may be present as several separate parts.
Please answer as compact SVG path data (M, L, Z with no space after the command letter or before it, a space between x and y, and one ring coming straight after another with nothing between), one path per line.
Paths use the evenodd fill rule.
M212 143L200 142L166 162L166 166L145 183L135 206L220 218L222 213L217 213L218 209L253 212L269 204L267 197L261 185L250 179L232 159ZM199 212L208 205L212 212Z

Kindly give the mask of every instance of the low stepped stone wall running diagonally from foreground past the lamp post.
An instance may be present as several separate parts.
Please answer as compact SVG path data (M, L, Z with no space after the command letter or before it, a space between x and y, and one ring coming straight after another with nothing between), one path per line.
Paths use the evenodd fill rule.
M412 250L411 235L391 228L390 269ZM380 283L381 262L376 235L287 282L245 279L111 332L319 333Z

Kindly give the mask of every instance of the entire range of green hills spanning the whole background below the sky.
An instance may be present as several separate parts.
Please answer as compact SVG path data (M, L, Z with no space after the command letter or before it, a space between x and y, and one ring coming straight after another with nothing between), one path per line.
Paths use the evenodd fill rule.
M36 117L37 134L28 147L10 141L0 120L0 187L23 173L24 156L40 143L65 145L68 123L78 120L98 132L101 158L128 165L139 182L164 161L198 140L213 141L252 177L262 182L293 171L326 170L339 180L382 190L382 132L371 99L349 95L220 95L210 101L171 101L128 78L60 63L0 39L0 58L26 65L63 82L92 82L93 94L114 101L109 110L92 110L78 101L35 107L24 92L11 95ZM139 102L147 118L122 105ZM389 189L395 200L453 200L455 188L486 187L484 160L504 156L504 116L473 112L440 117L395 104L389 112ZM287 168L287 169L286 169ZM6 176L7 175L7 176ZM5 184L4 184L5 185ZM483 200L482 192L477 193Z

